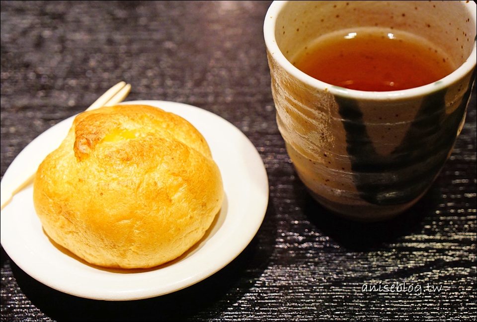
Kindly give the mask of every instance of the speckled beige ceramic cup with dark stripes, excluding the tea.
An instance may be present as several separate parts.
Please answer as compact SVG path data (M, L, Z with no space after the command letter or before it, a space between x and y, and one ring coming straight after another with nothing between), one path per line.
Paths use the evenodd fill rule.
M320 204L383 220L425 194L464 124L476 79L476 21L474 1L272 2L263 30L277 124ZM419 87L362 91L312 78L291 63L321 35L367 26L428 39L456 69Z

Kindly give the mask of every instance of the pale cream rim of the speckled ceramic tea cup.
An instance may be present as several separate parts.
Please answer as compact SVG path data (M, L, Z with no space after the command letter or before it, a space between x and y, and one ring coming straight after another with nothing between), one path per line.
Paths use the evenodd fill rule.
M357 99L367 99L367 100L389 100L389 99L407 99L412 97L418 97L426 94L433 93L435 91L441 90L448 87L452 83L459 81L464 78L467 74L473 72L476 69L477 62L477 36L474 37L474 48L472 49L471 54L466 59L466 61L461 64L454 72L447 75L446 77L437 80L435 82L408 88L401 90L393 91L364 91L356 89L348 89L344 87L339 87L326 83L321 80L317 80L304 72L296 68L290 61L283 55L282 51L277 45L275 38L275 26L277 16L283 7L290 2L289 0L274 0L268 7L265 20L263 23L263 35L265 39L265 46L269 54L275 59L275 61L282 66L288 73L298 80L303 81L304 83L313 86L315 88L327 91L331 94L338 96L346 96L349 98ZM477 24L477 5L475 1L460 1L463 2L467 7L467 10L470 12L472 18L474 19L474 25ZM476 28L477 29L477 28ZM477 31L476 31L477 35Z

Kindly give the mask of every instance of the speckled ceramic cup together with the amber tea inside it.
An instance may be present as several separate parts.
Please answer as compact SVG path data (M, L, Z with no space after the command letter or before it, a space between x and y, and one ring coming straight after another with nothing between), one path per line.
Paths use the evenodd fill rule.
M277 124L332 212L381 220L429 189L476 79L474 1L273 1L264 21Z

